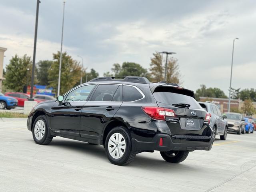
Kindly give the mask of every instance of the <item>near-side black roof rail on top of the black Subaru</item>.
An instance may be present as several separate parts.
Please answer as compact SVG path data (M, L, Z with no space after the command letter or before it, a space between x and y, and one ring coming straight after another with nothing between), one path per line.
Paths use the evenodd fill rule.
M122 79L120 79L122 78ZM126 76L126 77L96 77L89 82L94 81L124 81L124 82L133 82L133 83L142 83L148 84L150 81L146 77L137 77L137 76Z

